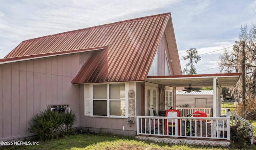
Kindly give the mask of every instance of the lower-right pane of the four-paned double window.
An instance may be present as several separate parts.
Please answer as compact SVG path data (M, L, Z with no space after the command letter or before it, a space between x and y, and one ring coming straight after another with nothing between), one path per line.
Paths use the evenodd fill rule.
M110 115L125 116L125 101L110 101Z

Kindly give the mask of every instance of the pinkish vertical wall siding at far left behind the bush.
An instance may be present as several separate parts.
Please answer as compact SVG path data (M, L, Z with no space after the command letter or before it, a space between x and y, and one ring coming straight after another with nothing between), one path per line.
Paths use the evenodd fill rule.
M80 126L79 86L71 83L90 52L0 64L0 140L32 135L29 121L46 105L69 105Z

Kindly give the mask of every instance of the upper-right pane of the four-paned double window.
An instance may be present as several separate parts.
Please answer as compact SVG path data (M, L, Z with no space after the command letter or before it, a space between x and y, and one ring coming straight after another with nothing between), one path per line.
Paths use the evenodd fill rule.
M125 84L110 84L110 99L125 99Z

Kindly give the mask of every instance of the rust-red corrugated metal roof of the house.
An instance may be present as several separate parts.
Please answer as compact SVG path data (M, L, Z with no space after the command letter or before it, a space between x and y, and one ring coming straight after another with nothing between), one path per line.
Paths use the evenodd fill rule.
M144 81L169 19L165 13L30 39L5 58L106 46L93 51L72 83Z

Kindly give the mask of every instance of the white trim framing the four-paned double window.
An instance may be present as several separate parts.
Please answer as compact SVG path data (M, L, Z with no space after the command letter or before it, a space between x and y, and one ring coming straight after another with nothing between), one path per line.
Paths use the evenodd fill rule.
M98 116L93 115L93 85L97 84L107 84L107 116ZM125 84L125 116L116 116L116 115L110 115L110 99L109 99L109 85L110 84ZM90 117L101 117L101 118L128 118L128 82L115 82L115 83L96 83L96 84L90 84Z

